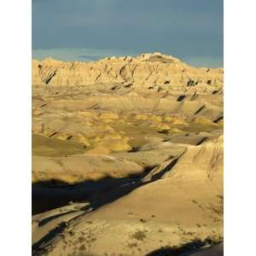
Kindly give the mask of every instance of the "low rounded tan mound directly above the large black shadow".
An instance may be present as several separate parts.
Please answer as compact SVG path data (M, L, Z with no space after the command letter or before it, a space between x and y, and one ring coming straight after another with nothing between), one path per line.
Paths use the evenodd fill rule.
M125 177L143 172L143 167L108 155L79 154L68 157L32 157L32 182L58 180L80 183L102 177Z

